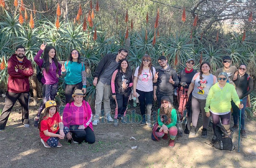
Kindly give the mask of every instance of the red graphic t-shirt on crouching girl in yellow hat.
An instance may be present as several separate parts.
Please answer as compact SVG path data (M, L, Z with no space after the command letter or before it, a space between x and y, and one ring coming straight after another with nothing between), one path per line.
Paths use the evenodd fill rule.
M62 122L59 112L56 112L52 117L48 117L41 121L40 137L42 140L46 142L50 138L44 134L45 130L48 130L50 133L57 133L60 129L59 122Z

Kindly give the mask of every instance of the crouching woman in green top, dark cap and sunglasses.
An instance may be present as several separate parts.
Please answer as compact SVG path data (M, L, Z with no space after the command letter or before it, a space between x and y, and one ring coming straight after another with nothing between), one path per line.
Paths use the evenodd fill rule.
M155 123L151 135L152 140L158 141L160 137L162 137L163 140L168 140L169 135L169 146L173 148L175 145L174 140L178 133L178 129L176 127L177 112L172 107L169 96L163 96L161 98L161 107L157 112L157 120L158 122Z

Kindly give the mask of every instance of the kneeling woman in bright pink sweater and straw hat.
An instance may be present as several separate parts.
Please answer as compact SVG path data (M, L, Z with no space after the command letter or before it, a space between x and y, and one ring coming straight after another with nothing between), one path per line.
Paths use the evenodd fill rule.
M93 114L88 102L83 100L83 92L76 89L72 98L74 101L67 103L63 111L63 124L70 129L67 134L68 140L81 144L83 141L93 144L95 135L93 132Z

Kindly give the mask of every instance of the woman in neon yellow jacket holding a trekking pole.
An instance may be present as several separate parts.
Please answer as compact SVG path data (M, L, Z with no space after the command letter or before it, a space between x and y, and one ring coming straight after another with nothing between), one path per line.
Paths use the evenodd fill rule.
M214 84L206 98L206 116L212 117L213 130L215 134L215 127L219 123L219 118L225 130L229 135L230 132L230 117L231 117L231 99L236 103L236 106L243 108L240 104L240 99L237 95L236 89L232 84L227 83L227 73L221 72L218 75L218 83ZM209 108L210 106L210 108Z

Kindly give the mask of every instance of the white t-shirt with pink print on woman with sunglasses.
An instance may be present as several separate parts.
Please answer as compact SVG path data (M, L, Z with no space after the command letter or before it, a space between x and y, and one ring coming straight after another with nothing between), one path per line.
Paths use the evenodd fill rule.
M153 67L153 74L150 69L142 70L140 76L139 74L139 66L136 68L134 76L138 77L138 83L136 89L144 92L153 91L153 74L155 74L155 68Z

